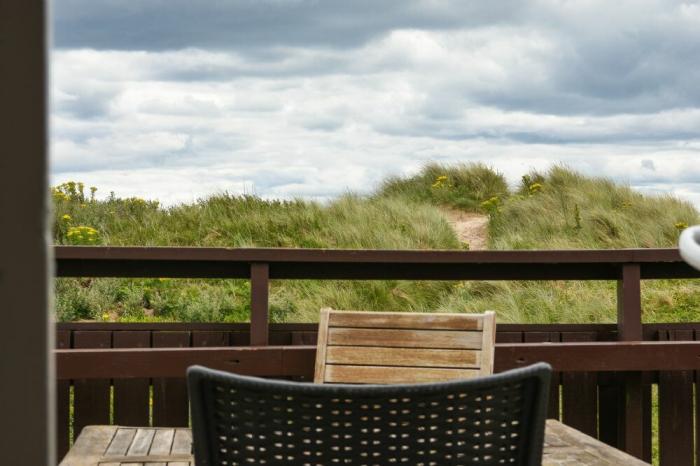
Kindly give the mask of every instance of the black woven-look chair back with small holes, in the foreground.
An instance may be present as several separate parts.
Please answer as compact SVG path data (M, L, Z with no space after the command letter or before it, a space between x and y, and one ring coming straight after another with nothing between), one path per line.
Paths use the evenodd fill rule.
M197 466L540 465L551 368L319 385L187 371Z

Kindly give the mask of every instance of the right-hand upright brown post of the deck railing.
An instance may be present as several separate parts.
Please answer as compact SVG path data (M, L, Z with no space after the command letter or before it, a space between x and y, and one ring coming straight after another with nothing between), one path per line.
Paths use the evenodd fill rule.
M642 340L642 296L639 264L624 264L617 281L617 335L619 341ZM624 406L621 413L625 450L642 458L644 453L642 374L625 374Z

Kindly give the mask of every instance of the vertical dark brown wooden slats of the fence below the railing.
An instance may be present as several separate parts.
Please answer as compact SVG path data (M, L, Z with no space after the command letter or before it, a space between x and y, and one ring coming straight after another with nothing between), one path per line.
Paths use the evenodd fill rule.
M189 326L189 330L187 330ZM272 324L269 341L275 345L315 344L316 324ZM180 348L246 346L247 324L58 324L60 348ZM646 340L700 340L698 324L645 325ZM588 342L617 339L615 325L513 325L498 327L498 343ZM310 368L312 364L307 365ZM298 380L311 380L312 371ZM652 384L658 386L661 465L692 465L696 451L693 371L645 373L648 396L644 413L644 459L652 455ZM70 397L71 391L73 396ZM58 445L67 451L73 435L89 424L187 426L184 379L89 379L60 381L58 385ZM553 379L549 417L624 449L622 429L625 374L561 372ZM72 401L71 401L72 400ZM71 418L70 413L73 412Z

